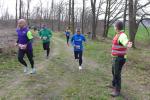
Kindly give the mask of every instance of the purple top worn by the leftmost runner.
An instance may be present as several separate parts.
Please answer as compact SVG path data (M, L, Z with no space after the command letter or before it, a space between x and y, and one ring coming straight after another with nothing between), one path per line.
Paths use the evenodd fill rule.
M27 27L24 27L22 29L17 28L16 32L18 34L18 43L19 44L27 44L27 50L32 50L32 43L29 42L29 39L27 37L29 29Z

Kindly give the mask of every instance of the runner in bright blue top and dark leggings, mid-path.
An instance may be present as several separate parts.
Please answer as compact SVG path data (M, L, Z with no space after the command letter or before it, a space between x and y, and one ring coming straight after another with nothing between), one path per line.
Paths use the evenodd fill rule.
M74 47L74 57L76 60L79 60L79 70L82 69L83 42L86 42L86 39L78 28L77 33L71 38L71 43Z

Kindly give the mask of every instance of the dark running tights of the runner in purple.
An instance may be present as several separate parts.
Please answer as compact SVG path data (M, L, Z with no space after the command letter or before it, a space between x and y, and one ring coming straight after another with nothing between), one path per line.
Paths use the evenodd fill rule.
M34 68L34 60L33 60L33 52L32 50L21 50L18 51L18 61L27 67L27 63L24 61L24 56L27 55L29 62L31 64L31 68Z

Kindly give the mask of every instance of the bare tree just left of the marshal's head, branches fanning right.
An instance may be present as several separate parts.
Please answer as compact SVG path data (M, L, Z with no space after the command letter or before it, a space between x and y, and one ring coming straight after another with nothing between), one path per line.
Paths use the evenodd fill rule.
M122 0L106 0L106 11L104 18L104 32L103 37L107 37L108 31L112 24L123 17L124 5L122 5Z

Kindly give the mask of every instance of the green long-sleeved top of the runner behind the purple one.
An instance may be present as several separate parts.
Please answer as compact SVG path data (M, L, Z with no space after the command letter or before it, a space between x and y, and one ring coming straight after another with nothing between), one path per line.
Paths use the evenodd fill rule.
M47 43L50 42L50 39L52 37L52 32L51 30L44 28L40 30L39 36L41 37L43 43Z

